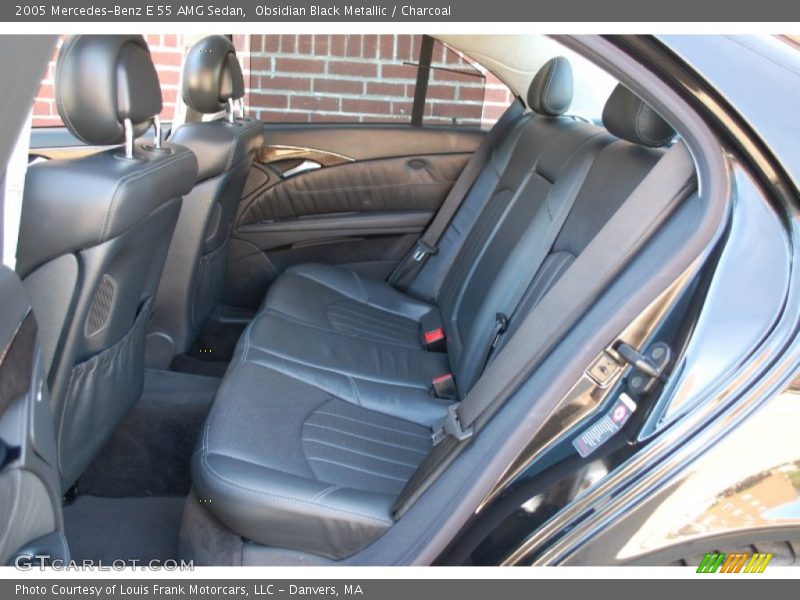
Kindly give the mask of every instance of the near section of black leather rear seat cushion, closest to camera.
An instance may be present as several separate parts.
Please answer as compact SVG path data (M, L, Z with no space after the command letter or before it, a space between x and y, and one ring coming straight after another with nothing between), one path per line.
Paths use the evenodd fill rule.
M392 525L430 429L251 361L228 373L193 462L201 500L255 542L344 558Z

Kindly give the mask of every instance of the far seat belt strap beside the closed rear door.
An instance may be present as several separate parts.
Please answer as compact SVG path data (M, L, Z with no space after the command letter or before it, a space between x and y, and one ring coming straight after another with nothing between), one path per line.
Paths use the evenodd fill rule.
M467 197L473 184L478 179L483 167L489 161L495 147L505 137L511 127L522 117L525 112L525 105L520 98L517 98L511 106L503 113L500 119L483 138L477 150L467 161L464 170L459 175L447 197L442 202L442 206L425 230L425 233L417 240L411 252L400 262L397 268L389 277L389 283L394 287L404 290L414 281L417 273L422 269L425 262L432 254L438 250L439 240L442 238L445 229L453 220L453 216L458 211L461 203Z

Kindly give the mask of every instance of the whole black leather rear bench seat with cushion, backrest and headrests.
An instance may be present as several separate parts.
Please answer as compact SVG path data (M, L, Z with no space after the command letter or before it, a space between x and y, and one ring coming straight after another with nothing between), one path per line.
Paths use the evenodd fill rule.
M529 106L565 111L568 63L543 73ZM223 523L261 544L331 558L392 525L394 500L452 402L432 393L432 378L452 371L463 396L482 371L495 313L525 289L521 305L532 307L661 156L648 146L672 137L621 87L604 121L614 135L558 114L523 117L412 285L417 298L325 265L278 279L239 342L195 454L198 494ZM571 197L555 244L542 247ZM421 343L435 326L446 353Z

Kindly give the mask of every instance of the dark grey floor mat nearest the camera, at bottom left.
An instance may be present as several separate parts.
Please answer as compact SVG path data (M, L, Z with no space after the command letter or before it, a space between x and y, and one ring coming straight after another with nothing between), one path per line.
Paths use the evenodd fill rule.
M79 496L64 509L73 560L165 560L178 556L185 498Z

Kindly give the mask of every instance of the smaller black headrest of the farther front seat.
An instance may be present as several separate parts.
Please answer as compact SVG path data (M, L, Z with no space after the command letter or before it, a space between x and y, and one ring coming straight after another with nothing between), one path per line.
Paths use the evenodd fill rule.
M183 101L199 113L224 110L228 100L244 97L244 76L236 49L222 35L203 38L189 51L183 67Z

